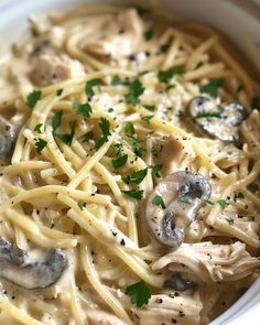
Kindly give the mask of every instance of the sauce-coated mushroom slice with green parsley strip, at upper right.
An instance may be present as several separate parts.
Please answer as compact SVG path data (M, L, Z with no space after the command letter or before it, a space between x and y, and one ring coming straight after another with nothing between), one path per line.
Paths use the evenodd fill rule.
M215 105L209 98L198 96L188 104L191 117L208 134L221 141L239 139L239 123L247 118L247 109L240 102Z

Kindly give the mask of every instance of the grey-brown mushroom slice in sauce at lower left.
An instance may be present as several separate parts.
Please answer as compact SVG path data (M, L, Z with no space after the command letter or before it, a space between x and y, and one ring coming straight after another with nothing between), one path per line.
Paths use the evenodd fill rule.
M46 288L55 283L67 264L66 256L52 249L45 259L32 261L28 254L0 237L0 277L25 289Z

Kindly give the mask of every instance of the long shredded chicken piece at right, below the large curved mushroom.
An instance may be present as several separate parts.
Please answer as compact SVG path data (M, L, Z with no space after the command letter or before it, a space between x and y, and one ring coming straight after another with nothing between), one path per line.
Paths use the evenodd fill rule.
M210 241L183 243L177 250L153 263L154 271L186 269L203 282L227 282L243 279L260 268L260 260L246 251L246 245L213 245Z

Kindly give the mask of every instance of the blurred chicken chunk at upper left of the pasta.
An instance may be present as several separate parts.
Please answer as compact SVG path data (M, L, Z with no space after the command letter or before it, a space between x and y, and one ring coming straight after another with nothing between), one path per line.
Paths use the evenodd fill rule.
M40 55L35 63L35 72L37 78L44 85L85 76L83 65L66 55Z

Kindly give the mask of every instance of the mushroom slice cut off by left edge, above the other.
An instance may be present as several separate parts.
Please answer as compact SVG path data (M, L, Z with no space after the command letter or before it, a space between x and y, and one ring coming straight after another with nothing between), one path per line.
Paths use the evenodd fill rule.
M0 117L0 164L4 165L8 163L15 138L14 127L4 118Z

